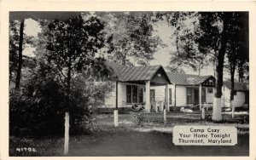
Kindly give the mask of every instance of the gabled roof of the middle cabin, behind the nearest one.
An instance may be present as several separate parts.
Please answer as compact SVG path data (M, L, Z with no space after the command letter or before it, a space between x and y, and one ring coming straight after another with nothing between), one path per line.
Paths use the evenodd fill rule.
M209 77L212 77L211 75L198 76L173 72L168 72L167 75L172 83L178 85L200 85L201 83L204 83Z

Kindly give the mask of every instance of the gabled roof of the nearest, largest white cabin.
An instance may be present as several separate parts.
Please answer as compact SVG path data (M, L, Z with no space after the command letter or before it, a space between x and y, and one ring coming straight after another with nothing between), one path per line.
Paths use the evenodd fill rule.
M106 66L110 67L118 80L121 82L129 82L129 81L147 81L150 80L157 71L164 68L160 65L158 66L123 66L114 62L105 62ZM165 74L166 71L164 70ZM166 78L167 75L166 75ZM167 79L169 83L171 83L170 79Z

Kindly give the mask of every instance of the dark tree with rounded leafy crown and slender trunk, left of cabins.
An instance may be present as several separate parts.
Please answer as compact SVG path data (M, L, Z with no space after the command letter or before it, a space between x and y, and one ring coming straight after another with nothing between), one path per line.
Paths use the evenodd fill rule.
M102 64L103 59L95 55L104 45L103 28L104 24L95 16L78 16L66 21L50 21L47 30L43 30L46 42L41 48L45 47L46 52L39 56L61 83L67 97L67 111L71 107L73 79L79 72L90 71Z

